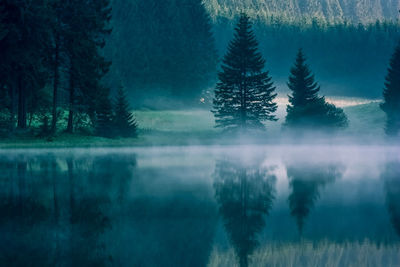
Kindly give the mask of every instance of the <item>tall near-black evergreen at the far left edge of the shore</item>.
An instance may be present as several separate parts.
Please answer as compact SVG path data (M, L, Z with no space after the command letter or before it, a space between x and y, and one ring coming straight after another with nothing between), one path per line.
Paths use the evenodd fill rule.
M49 41L48 6L45 0L0 2L2 24L7 34L0 42L2 87L9 90L10 112L17 110L17 125L26 129L28 106L47 82L46 45Z

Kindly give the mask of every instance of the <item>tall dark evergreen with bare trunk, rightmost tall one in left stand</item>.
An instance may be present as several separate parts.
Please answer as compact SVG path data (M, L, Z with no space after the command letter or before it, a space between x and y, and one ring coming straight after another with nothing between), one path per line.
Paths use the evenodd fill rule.
M110 62L105 60L101 49L105 38L111 33L109 0L68 0L65 5L65 45L69 59L69 115L67 132L74 131L76 112L89 115L96 120L97 107L104 106L104 96L109 92L102 85ZM79 40L79 41L78 41ZM99 113L104 112L100 110Z

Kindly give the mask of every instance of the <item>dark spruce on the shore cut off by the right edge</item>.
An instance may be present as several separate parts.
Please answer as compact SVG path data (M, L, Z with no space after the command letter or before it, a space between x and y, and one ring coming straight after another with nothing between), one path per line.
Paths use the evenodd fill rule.
M383 99L381 108L387 116L386 134L398 136L400 133L400 44L390 61Z

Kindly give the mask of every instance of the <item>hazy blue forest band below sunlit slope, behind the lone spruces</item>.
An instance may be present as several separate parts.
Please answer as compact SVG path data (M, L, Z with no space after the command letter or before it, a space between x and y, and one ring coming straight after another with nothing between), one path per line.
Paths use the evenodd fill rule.
M294 55L302 47L325 92L334 96L380 98L387 63L400 38L397 21L370 24L326 23L314 19L288 22L254 19L260 51L281 92ZM215 26L220 54L225 53L234 24L219 19Z

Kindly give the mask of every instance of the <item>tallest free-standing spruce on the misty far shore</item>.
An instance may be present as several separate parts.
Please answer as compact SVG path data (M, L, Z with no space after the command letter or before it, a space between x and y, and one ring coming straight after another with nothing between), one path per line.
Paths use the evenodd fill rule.
M264 129L263 121L277 120L273 114L277 94L264 67L252 23L242 13L218 73L212 110L216 127L228 131Z

